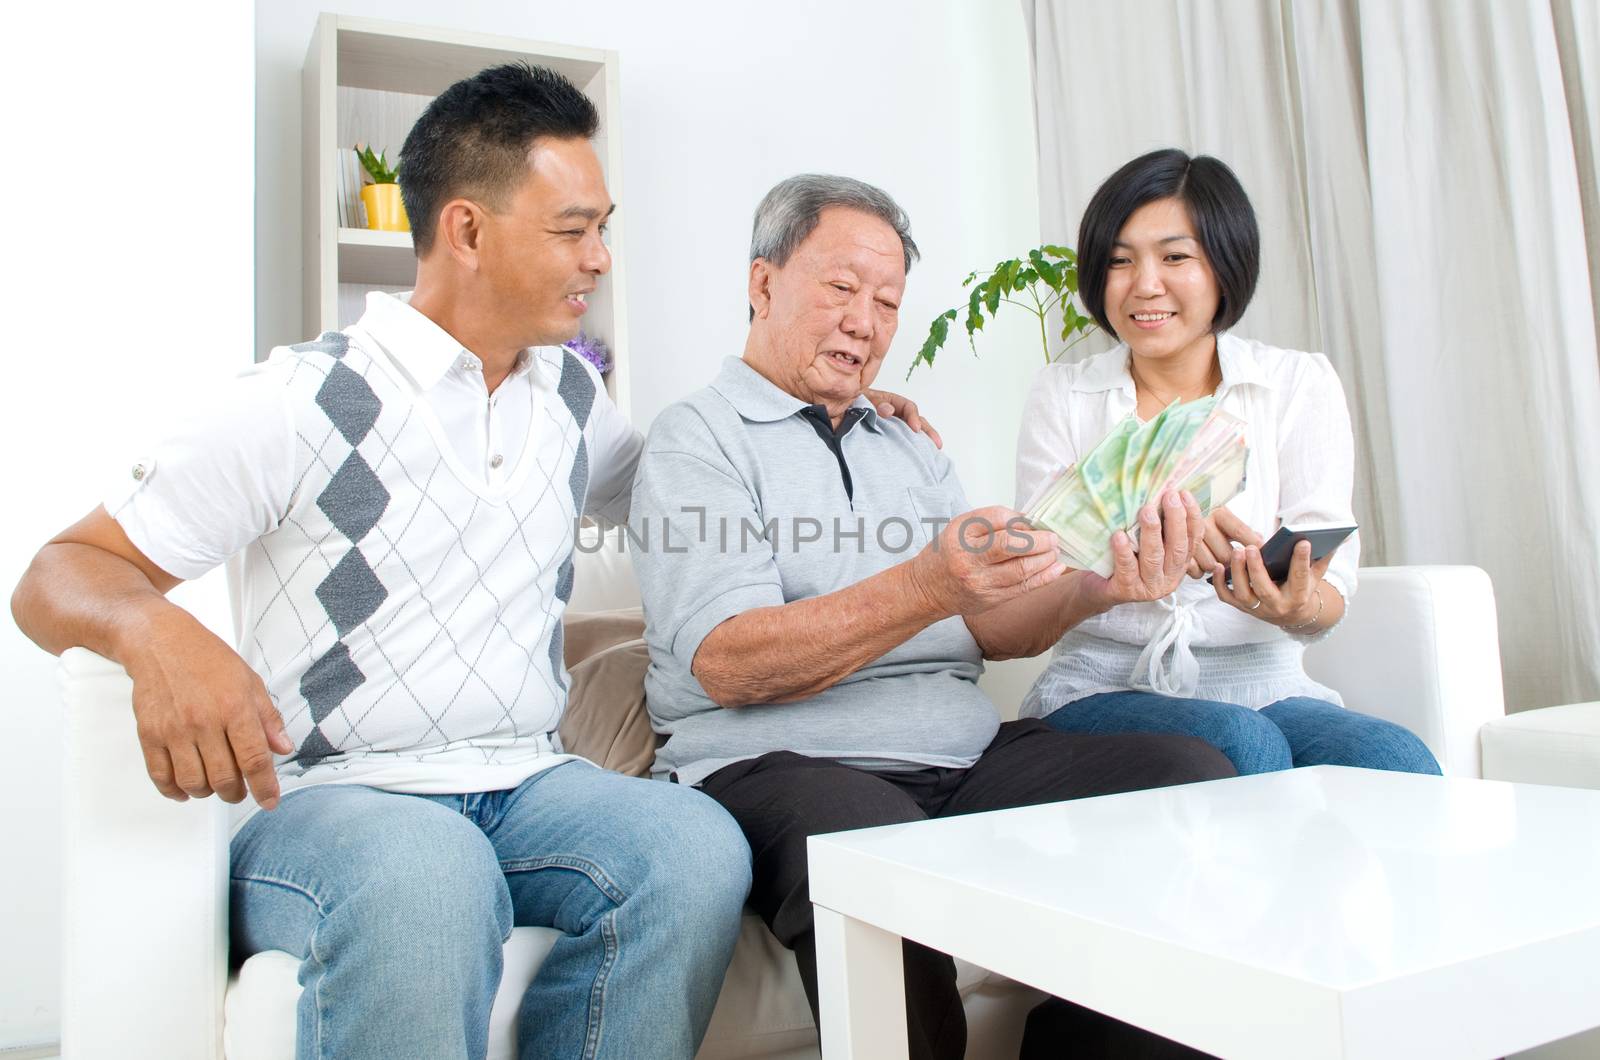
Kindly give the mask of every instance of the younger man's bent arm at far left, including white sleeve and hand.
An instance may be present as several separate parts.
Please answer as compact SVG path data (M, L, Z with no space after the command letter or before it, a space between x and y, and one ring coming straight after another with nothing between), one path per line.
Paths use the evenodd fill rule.
M46 652L122 663L162 794L238 802L248 785L270 807L269 749L293 743L245 660L165 592L283 520L296 431L282 381L258 368L226 383L128 464L104 506L40 549L11 599L18 626Z

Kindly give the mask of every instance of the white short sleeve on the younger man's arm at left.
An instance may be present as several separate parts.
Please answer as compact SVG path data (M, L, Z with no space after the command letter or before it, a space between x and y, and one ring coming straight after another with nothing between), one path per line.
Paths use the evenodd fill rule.
M136 450L104 506L174 578L198 578L274 530L294 492L294 420L283 384L251 370Z

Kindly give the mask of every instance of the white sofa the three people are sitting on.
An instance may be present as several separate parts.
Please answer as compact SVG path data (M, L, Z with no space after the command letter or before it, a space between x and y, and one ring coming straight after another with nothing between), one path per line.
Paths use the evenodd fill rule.
M579 559L574 610L630 604L637 592L626 556L603 549ZM1014 711L1042 666L1002 663L982 684ZM1494 597L1482 570L1363 570L1349 616L1314 645L1307 666L1352 708L1416 732L1446 773L1480 775L1478 729L1504 713ZM293 1057L298 962L264 953L229 975L227 809L155 794L120 666L74 648L59 674L67 709L64 1055ZM491 1057L515 1055L515 1004L552 940L549 929L520 927L506 943ZM1022 1015L1040 994L970 966L960 972L968 1055L1016 1055ZM816 1055L794 959L755 916L746 916L699 1055Z

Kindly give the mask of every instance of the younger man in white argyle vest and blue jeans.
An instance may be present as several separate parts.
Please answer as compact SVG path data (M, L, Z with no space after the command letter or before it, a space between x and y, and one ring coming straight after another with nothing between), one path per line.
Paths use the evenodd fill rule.
M302 961L302 1057L483 1057L501 943L538 924L523 1057L688 1060L733 953L731 818L557 737L574 520L626 520L642 445L560 349L611 264L597 128L544 69L440 94L402 151L410 298L274 351L13 600L128 669L163 794L259 804L232 938ZM163 596L224 562L237 650Z

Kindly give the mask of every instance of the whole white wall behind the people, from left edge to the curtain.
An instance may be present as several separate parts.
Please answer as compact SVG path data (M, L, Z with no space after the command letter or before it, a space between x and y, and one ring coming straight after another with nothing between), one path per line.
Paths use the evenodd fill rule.
M251 352L299 336L299 67L331 0L29 8L0 62L14 144L11 357L0 415L8 517L0 586L96 503L142 410L181 407ZM622 62L629 320L640 426L710 378L744 338L749 219L803 170L878 183L906 205L923 261L880 379L944 432L974 503L1008 501L1024 320L974 360L958 341L904 381L958 280L1037 242L1027 46L1011 3L806 5L349 0L429 26L614 48ZM26 42L26 48L18 46ZM254 70L251 62L254 61ZM42 93L40 86L51 85ZM62 88L80 82L78 88ZM254 314L251 336L251 86ZM80 207L112 171L122 213ZM46 179L48 175L48 179ZM21 333L18 333L21 328ZM154 418L158 418L154 416ZM61 724L53 660L0 621L0 1049L58 1038ZM115 887L117 868L106 866Z

